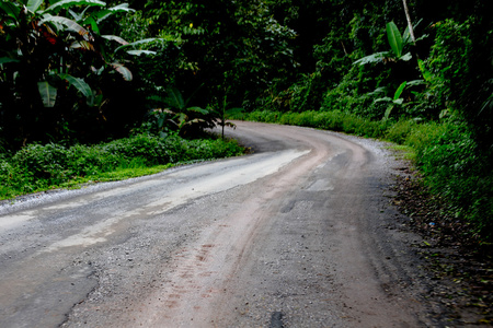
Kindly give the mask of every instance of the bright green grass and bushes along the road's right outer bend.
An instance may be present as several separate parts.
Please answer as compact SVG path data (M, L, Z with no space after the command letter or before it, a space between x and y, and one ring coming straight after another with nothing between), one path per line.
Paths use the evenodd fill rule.
M461 230L477 243L486 243L493 232L492 166L463 125L414 119L370 120L337 110L303 113L253 112L245 120L340 131L391 141L402 145L406 160L422 176L421 183L446 201L449 220L460 220L472 230ZM482 239L479 234L482 233ZM471 241L472 241L471 239Z

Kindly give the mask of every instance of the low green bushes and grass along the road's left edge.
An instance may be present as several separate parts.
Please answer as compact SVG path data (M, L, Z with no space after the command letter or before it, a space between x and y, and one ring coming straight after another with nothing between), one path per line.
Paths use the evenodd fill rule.
M149 134L94 147L30 144L10 159L0 159L0 199L101 177L135 176L135 168L234 156L242 151L238 143L222 139L186 140L177 136L162 139ZM122 171L126 173L115 173Z

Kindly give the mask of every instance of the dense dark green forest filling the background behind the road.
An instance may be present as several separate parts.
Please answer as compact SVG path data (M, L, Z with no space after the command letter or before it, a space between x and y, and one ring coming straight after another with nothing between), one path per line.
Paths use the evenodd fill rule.
M149 153L128 144L158 147L149 163L168 163L167 149L209 138L205 128L228 117L306 125L414 148L428 188L479 242L491 241L492 7L1 0L0 176L13 186L35 165L22 184L84 175L102 153ZM84 153L89 171L60 168L57 156L91 144L100 148ZM48 153L50 163L36 157Z

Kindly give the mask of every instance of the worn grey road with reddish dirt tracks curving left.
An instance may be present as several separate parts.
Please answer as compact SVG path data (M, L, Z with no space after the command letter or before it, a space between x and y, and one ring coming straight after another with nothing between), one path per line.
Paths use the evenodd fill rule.
M0 327L419 327L380 145L237 122L242 157L0 208Z

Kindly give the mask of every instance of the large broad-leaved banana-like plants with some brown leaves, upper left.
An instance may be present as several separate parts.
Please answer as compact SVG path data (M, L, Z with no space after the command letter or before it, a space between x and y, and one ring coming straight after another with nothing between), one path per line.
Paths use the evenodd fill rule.
M108 110L117 103L111 89L133 80L124 60L142 51L116 54L113 43L128 49L137 43L101 31L111 16L133 10L96 0L28 1L24 10L25 2L0 2L0 138L16 149L96 134L93 127L111 131L118 120ZM127 117L119 120L135 115Z

